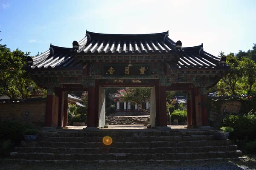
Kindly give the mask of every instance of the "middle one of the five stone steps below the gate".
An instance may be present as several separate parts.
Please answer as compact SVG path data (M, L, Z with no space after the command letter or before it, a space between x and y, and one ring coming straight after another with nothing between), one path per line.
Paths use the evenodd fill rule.
M23 147L72 147L72 148L95 148L95 147L204 147L204 146L223 146L230 145L230 140L204 140L187 142L112 142L111 145L105 145L103 142L25 142L21 141Z

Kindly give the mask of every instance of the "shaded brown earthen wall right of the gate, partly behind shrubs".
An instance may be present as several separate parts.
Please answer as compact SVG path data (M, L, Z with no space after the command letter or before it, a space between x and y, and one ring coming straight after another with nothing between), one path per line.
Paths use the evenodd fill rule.
M222 121L225 116L230 113L240 113L241 111L240 100L209 101L209 103L211 103L208 106L209 123L215 128L222 126ZM226 110L225 113L224 109Z

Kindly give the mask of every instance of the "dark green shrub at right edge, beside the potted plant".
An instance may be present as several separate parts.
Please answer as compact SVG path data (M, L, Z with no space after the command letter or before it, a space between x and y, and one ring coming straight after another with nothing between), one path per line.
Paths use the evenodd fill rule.
M223 125L233 127L230 139L256 139L256 115L229 115L224 118Z

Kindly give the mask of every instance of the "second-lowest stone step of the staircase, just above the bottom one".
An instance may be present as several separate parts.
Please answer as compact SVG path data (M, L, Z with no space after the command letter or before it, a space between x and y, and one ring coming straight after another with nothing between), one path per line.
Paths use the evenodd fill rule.
M70 148L70 147L16 147L18 153L79 153L79 154L99 154L99 153L202 153L202 152L229 152L237 150L236 145L228 146L204 146L204 147L96 147L96 148Z

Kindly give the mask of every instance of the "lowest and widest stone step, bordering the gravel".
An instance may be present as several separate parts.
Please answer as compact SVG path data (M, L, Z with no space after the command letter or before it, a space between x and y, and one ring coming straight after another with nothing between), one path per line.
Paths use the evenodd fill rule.
M29 160L175 160L175 159L210 159L233 158L241 156L240 150L229 152L203 152L203 153L101 153L101 154L55 154L55 153L12 153L13 159Z

